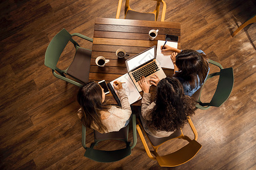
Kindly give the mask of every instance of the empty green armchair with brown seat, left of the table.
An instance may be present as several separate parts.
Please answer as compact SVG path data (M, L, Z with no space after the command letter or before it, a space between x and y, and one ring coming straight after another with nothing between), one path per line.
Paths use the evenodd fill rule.
M59 33L57 33L57 35L53 37L52 41L49 43L44 58L44 65L52 69L52 74L56 76L56 78L82 87L82 84L89 81L90 58L92 55L92 50L81 48L79 44L77 44L77 42L72 39L73 36L78 36L90 42L93 41L89 37L81 35L80 33L73 33L71 35L66 29L63 28ZM61 53L69 41L71 41L75 46L76 54L71 65L65 70L60 70L56 65L59 61ZM55 70L59 74L56 74ZM77 82L75 80L68 79L64 74L75 78Z

